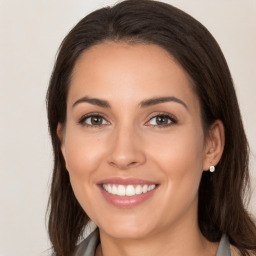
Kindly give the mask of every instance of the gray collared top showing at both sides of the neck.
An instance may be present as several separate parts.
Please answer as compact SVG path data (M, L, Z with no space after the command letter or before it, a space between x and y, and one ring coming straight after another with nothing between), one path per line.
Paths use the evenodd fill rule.
M95 256L97 245L100 242L99 230L93 231L78 247L75 256ZM216 256L231 256L227 236L223 235Z

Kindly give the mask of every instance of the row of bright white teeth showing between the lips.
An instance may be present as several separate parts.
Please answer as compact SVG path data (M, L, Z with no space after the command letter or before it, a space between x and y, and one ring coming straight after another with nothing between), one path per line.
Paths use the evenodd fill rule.
M142 193L147 193L156 188L155 184L152 185L111 185L111 184L103 184L103 189L110 194L118 195L118 196L134 196L140 195Z

